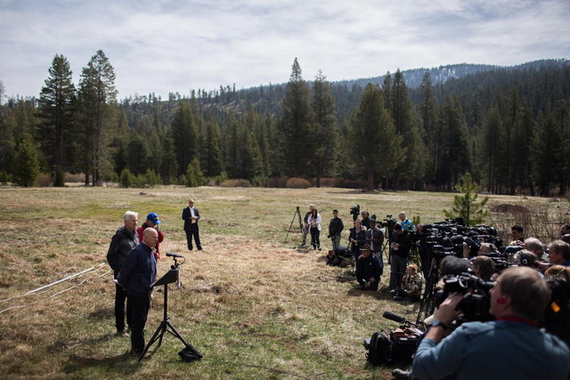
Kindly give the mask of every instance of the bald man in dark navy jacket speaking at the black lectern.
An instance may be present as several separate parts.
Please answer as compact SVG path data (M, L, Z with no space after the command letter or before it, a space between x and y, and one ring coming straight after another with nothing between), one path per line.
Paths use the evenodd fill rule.
M144 325L151 305L151 284L157 278L157 260L152 251L158 240L157 230L144 230L142 243L129 252L117 277L118 285L126 289L131 353L134 355L144 350Z

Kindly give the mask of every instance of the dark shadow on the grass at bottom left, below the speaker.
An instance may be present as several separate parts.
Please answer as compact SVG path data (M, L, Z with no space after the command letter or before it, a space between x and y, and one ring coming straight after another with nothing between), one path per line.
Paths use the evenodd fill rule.
M140 363L137 358L132 357L129 352L124 352L110 358L94 359L81 355L73 355L69 357L68 364L63 368L67 374L89 371L99 373L99 376L105 377L104 374L116 374L131 376L138 370Z

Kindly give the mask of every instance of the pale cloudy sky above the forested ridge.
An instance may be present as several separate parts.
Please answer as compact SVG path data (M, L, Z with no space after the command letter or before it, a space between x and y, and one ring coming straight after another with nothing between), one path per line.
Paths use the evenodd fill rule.
M377 77L453 63L570 58L569 0L0 0L5 94L39 93L53 56L77 84L97 50L119 98Z

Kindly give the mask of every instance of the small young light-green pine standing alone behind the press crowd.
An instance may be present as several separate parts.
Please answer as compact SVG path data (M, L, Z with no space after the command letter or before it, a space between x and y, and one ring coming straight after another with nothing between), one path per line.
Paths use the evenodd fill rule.
M489 214L485 210L485 206L489 201L489 197L477 201L479 195L476 193L477 184L471 178L471 174L463 174L460 178L460 183L455 186L462 195L453 197L453 207L451 211L444 210L446 218L455 218L460 216L467 226L485 222L485 218Z

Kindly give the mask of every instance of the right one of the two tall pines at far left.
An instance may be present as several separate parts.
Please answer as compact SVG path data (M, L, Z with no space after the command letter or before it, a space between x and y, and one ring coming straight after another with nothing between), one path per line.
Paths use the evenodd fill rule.
M85 185L92 174L93 185L102 182L101 170L107 156L108 135L114 119L117 98L115 71L101 50L82 70L79 81L79 107L84 135Z

